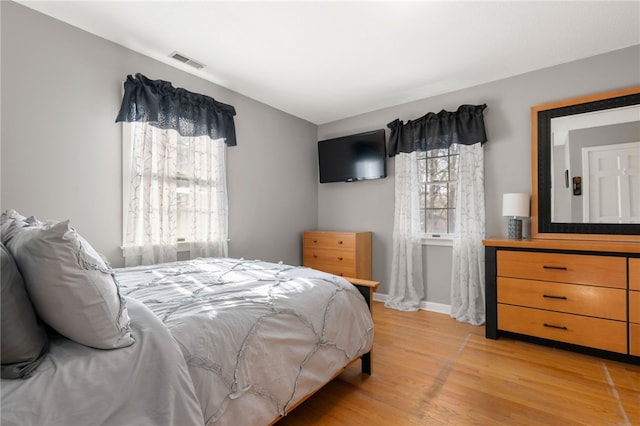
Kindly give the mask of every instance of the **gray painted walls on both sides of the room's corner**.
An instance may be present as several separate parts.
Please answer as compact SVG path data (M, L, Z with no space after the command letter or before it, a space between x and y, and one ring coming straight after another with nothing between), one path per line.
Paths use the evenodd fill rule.
M640 84L640 46L315 126L11 2L1 4L2 210L69 218L122 264L121 135L113 120L127 74L236 107L228 150L230 255L301 262L305 229L373 232L373 278L386 293L394 167L386 179L319 184L316 141L486 103L487 236L506 235L504 192L529 192L530 108ZM500 64L496 64L500 66ZM449 304L450 249L425 250L427 301Z

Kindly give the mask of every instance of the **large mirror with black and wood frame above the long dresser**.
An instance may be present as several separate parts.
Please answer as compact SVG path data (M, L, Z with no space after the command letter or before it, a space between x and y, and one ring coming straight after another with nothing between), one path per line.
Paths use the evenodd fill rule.
M533 238L640 241L640 86L531 109Z

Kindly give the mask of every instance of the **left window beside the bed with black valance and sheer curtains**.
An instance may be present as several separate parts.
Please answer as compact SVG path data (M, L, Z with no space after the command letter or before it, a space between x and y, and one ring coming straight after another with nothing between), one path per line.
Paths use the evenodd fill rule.
M123 126L125 266L226 256L225 147L236 145L235 108L142 74L128 75Z

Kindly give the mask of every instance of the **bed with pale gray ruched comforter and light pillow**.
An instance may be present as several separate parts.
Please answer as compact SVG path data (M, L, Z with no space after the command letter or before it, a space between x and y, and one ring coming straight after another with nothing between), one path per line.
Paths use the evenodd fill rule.
M3 374L3 425L271 424L371 350L369 308L343 278L230 258L110 269L68 222L17 218L3 218L2 242L24 276L47 343L27 377ZM39 253L30 248L37 245L33 240L44 246ZM60 248L50 255L41 240L54 246L71 241L67 259ZM29 260L33 256L37 261ZM84 275L50 312L43 304L78 280L65 269L59 273L64 290L38 294L46 286L34 282L55 281L59 258L75 262L73 273ZM45 275L33 272L47 262ZM3 276L4 269L3 263ZM73 328L102 315L86 314L95 296L76 309L87 315L82 320L72 314L86 301L68 300L96 277L100 285L111 283L101 297L108 293L119 303L106 310L112 317L111 328L103 326L106 345L95 342L105 330ZM3 278L3 298L4 288ZM75 319L59 324L61 316ZM5 322L3 313L3 331Z

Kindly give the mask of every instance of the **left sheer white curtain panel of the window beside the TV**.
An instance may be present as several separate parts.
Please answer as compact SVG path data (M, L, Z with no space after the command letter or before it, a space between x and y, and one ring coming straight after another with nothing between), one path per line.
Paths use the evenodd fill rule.
M395 156L393 260L385 306L416 311L424 297L417 152Z

